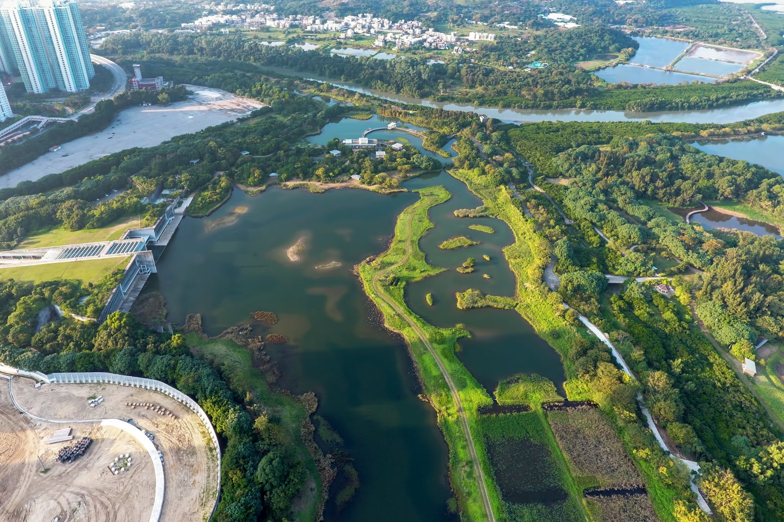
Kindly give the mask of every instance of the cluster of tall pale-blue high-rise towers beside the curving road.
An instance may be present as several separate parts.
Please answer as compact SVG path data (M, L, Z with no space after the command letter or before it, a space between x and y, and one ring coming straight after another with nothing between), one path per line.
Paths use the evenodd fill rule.
M95 70L78 4L72 0L3 2L0 69L19 71L27 92L88 89Z

